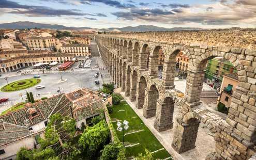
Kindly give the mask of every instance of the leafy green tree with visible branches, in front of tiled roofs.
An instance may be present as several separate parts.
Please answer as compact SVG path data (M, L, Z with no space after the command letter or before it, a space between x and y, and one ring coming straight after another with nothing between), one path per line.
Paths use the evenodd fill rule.
M80 154L77 143L73 142L75 126L76 122L70 117L52 115L34 159L75 159Z

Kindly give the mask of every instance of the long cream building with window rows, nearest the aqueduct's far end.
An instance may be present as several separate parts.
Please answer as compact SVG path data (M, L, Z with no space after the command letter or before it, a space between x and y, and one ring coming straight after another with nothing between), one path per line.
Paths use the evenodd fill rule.
M74 56L91 56L91 49L88 44L64 44L61 47L61 51Z

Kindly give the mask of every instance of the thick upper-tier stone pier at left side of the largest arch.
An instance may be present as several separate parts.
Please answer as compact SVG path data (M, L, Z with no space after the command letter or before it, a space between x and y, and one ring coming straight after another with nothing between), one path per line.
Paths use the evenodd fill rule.
M200 104L200 94L204 83L204 71L188 71L186 85L186 102L193 105Z

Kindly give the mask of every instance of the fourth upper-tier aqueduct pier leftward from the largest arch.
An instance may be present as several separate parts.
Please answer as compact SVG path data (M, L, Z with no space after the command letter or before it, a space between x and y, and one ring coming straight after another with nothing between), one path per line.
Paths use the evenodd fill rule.
M139 68L141 70L147 70L149 65L149 45L143 44L139 55Z

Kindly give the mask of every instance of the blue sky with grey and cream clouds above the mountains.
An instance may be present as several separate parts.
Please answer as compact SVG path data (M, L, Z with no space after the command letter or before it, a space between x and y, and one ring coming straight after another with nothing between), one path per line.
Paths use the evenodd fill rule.
M255 28L256 0L0 0L0 23Z

